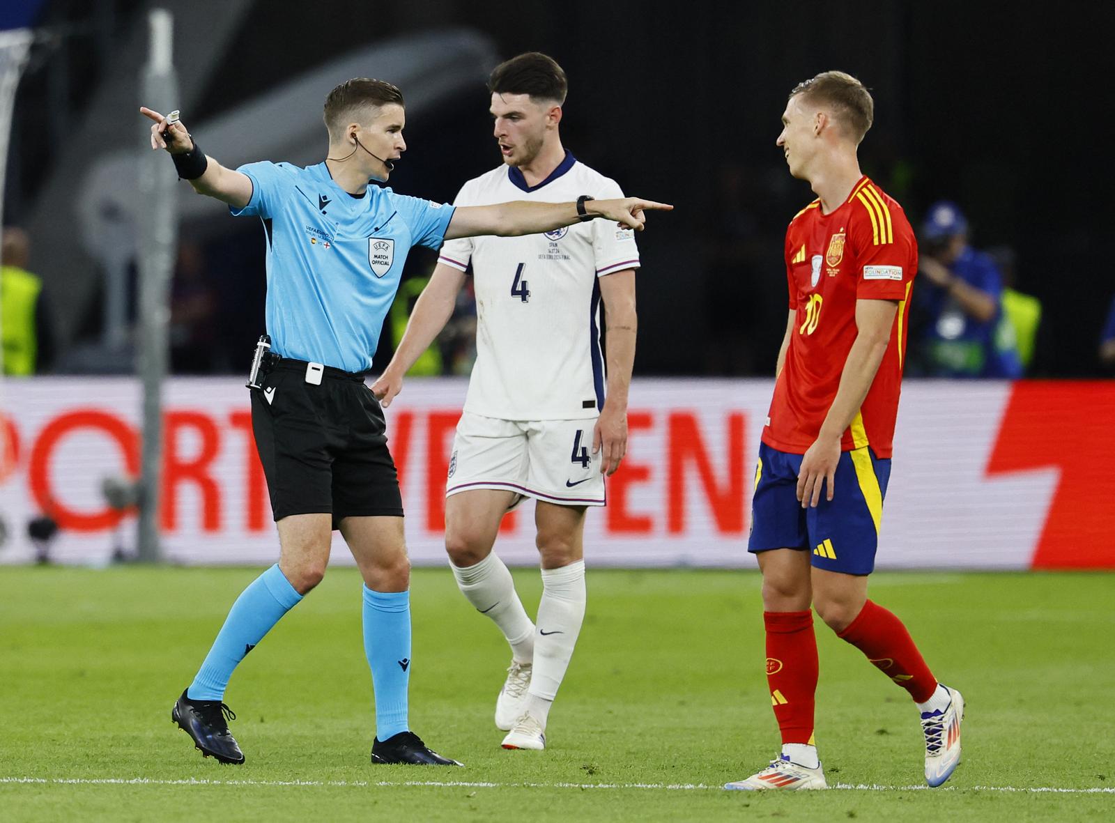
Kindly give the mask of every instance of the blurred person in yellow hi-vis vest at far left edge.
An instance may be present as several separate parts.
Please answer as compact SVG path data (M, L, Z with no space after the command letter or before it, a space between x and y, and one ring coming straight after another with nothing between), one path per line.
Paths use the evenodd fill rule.
M54 361L54 329L42 280L27 270L31 242L21 229L3 230L0 241L0 333L3 372L33 375Z

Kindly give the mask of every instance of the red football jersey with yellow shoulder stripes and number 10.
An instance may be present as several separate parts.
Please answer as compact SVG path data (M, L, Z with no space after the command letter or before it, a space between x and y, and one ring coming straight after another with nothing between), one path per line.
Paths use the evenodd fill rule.
M797 316L764 443L805 454L836 397L856 338L855 301L898 300L886 354L842 442L845 452L870 445L878 457L891 456L917 271L918 242L910 221L866 177L832 214L823 214L816 200L794 216L786 230L786 277L789 308Z

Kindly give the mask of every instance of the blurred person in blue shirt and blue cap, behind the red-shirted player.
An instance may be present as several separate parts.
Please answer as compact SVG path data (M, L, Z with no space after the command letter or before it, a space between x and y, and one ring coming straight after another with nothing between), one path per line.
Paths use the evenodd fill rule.
M953 203L929 211L921 230L920 362L932 377L1021 377L1015 327L1002 319L1002 277L968 244L968 221Z

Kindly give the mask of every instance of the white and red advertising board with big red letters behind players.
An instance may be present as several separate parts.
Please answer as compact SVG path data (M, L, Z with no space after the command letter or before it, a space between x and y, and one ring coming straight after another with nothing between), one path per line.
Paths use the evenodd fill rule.
M589 513L599 565L749 567L752 478L772 385L637 380L627 458L608 506ZM417 564L444 561L444 488L464 399L459 379L410 380L387 411L389 446ZM134 512L101 493L138 471L132 379L9 380L0 417L0 562L33 556L26 523L50 512L52 556L100 563L134 543ZM183 563L266 563L277 540L255 457L246 389L173 379L164 391L159 523ZM1115 568L1115 384L910 381L903 389L878 565ZM347 552L337 539L334 559ZM530 505L498 551L533 564Z

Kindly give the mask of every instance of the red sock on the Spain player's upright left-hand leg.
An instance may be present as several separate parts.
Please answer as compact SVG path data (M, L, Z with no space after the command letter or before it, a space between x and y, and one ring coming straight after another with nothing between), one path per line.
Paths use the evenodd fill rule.
M767 685L783 743L813 743L817 638L812 611L765 611Z

